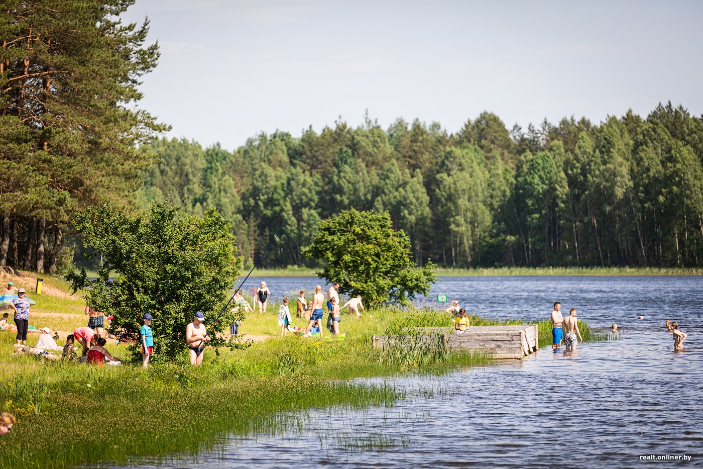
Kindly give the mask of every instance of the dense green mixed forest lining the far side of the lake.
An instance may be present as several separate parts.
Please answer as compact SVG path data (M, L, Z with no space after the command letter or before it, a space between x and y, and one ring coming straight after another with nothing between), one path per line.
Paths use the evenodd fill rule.
M703 120L660 104L600 125L547 120L508 130L484 112L439 123L366 116L292 137L262 133L235 151L154 140L136 205L170 199L232 220L252 261L293 216L269 267L306 265L318 220L345 208L388 211L418 265L703 263Z

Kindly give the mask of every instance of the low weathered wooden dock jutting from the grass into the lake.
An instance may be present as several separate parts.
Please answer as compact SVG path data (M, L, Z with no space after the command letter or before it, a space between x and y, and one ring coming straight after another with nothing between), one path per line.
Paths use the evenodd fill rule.
M470 326L465 334L456 334L451 327L418 327L418 335L403 337L375 335L371 337L374 347L394 346L410 340L417 343L436 342L441 336L444 346L448 349L470 349L487 351L494 358L522 359L539 349L539 339L536 324L502 325L502 326Z

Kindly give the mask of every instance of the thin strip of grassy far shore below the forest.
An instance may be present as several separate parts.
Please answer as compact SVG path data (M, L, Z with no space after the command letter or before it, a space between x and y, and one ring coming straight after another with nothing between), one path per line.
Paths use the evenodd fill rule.
M681 267L488 267L437 268L437 277L670 277L703 275L703 268ZM246 273L244 274L246 275ZM244 277L242 275L242 277ZM257 268L254 277L317 277L315 269L288 266L284 269Z

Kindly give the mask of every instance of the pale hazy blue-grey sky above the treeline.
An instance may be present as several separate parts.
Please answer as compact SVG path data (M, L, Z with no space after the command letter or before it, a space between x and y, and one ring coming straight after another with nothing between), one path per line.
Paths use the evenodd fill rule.
M508 129L594 123L659 101L703 113L701 1L137 0L160 65L141 106L169 137L226 149L341 115Z

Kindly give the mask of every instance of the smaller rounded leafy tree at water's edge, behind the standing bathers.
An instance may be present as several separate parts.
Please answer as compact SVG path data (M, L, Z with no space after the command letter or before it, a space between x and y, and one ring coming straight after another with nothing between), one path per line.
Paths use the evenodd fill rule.
M359 294L370 306L409 304L415 294L430 292L434 264L417 268L410 254L410 239L403 230L393 230L388 212L354 209L321 220L303 252L325 263L320 277L340 282L340 292Z

